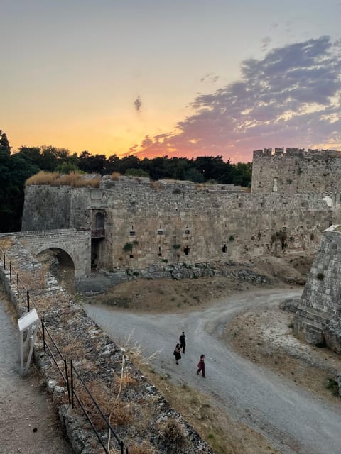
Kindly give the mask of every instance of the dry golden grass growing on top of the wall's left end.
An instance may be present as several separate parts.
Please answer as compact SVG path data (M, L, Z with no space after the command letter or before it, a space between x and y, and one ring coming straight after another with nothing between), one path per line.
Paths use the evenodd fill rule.
M26 186L46 184L50 186L71 186L71 187L99 187L101 177L99 175L82 175L71 172L68 175L59 172L38 172L26 180Z

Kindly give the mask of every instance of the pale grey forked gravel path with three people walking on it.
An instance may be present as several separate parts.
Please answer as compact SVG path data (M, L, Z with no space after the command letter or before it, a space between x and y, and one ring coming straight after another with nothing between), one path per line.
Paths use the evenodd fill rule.
M85 310L121 345L131 335L145 356L159 351L151 358L158 373L210 394L213 403L266 436L282 453L340 453L340 406L265 371L220 340L224 326L239 311L271 306L299 294L301 290L291 289L243 292L204 311L185 314L132 314L91 305ZM176 366L173 349L181 331L186 333L187 348ZM201 353L205 353L206 379L195 374Z

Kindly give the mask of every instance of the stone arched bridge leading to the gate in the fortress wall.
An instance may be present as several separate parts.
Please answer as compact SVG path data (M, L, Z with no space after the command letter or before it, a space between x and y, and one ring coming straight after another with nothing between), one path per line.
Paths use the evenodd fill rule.
M18 232L16 238L33 255L44 250L58 250L70 257L75 267L75 279L91 272L91 231L65 228L47 231Z

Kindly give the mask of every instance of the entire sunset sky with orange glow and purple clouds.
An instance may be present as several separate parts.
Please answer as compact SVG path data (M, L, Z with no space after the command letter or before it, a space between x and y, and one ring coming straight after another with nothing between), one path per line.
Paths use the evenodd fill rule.
M341 150L340 0L0 0L13 150Z

